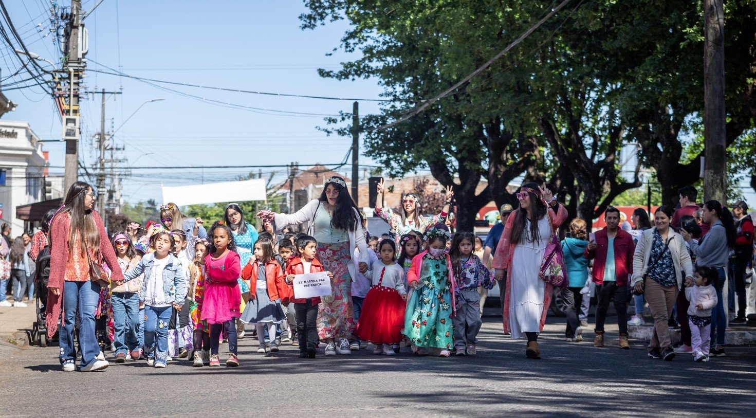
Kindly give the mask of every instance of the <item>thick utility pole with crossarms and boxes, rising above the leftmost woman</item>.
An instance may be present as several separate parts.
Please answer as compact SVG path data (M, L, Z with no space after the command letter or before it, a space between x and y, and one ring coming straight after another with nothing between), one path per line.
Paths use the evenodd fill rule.
M64 174L64 193L68 192L71 184L79 178L79 83L86 67L86 61L82 60L86 54L86 41L84 24L82 23L82 2L71 0L70 14L64 16L67 20L65 35L66 60L64 70L70 73L68 91L57 89L55 100L58 102L58 110L64 121L64 140L66 141L66 167ZM68 103L66 104L66 99ZM68 116L68 117L66 117Z

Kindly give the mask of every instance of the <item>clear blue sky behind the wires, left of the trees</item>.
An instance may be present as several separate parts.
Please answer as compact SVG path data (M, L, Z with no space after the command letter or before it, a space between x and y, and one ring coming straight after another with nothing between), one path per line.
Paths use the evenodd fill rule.
M42 38L34 28L49 27L43 14L47 0L6 2L11 19L29 51L57 61L53 36ZM96 0L85 0L83 9ZM69 5L70 2L65 1ZM116 11L117 8L117 11ZM85 20L89 30L88 70L120 69L122 73L150 79L185 82L253 91L308 94L348 98L379 98L375 79L338 82L322 79L318 68L336 69L349 60L345 54L326 56L339 45L343 22L302 31L299 14L306 11L301 0L276 2L143 2L105 0ZM42 23L42 26L36 26ZM18 64L3 51L5 60ZM47 65L47 64L43 64ZM0 61L3 74L8 65ZM317 130L322 116L280 116L197 101L144 84L134 79L88 71L89 91L122 91L106 104L106 131L111 131L145 104L113 136L124 146L126 165L133 166L225 166L283 165L299 161L339 163L349 150L351 138L327 137ZM10 80L6 81L11 82ZM168 85L175 90L203 98L301 113L336 114L352 110L352 101L322 101L307 98L278 98L256 94L212 91ZM122 88L122 90L121 90ZM53 101L41 89L5 93L18 104L4 119L28 121L43 139L60 138L60 119ZM100 95L82 104L82 141L79 155L88 166L95 162L93 136L100 126ZM360 113L373 113L376 102L361 102ZM265 114L267 113L267 114ZM64 144L45 143L51 166L64 165ZM372 164L361 156L361 163ZM286 169L263 169L263 175ZM345 172L349 167L340 169ZM258 169L254 169L258 172ZM62 169L51 169L62 174ZM124 183L129 202L160 200L164 184L192 184L223 181L246 174L246 169L225 170L133 170Z

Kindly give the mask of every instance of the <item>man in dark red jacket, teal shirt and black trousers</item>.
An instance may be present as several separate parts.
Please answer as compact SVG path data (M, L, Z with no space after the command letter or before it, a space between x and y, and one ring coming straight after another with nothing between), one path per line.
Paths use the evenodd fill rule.
M609 206L604 212L606 228L593 234L585 258L593 260L593 283L599 305L596 307L594 347L604 346L604 321L609 302L614 300L619 325L619 348L630 349L627 341L627 279L633 274L633 237L619 228L619 209Z

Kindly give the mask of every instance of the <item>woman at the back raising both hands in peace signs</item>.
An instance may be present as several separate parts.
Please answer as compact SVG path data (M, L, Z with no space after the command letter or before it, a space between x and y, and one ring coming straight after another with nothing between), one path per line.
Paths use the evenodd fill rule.
M446 202L441 213L438 215L420 215L420 198L414 193L405 194L404 199L401 201L401 207L404 210L401 212L401 215L398 215L386 212L383 209L383 180L378 183L378 194L380 194L380 197L376 199L375 214L389 224L390 231L394 234L394 240L398 246L401 245L401 236L404 234L409 234L413 230L424 233L431 225L445 223L446 217L449 214L451 200L454 197L454 191L451 190L451 186L447 186Z

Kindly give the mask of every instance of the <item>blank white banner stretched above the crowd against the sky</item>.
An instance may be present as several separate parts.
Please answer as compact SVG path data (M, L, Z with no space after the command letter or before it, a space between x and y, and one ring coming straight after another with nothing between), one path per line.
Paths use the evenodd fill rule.
M163 203L172 202L178 206L266 199L265 180L262 178L162 187Z

